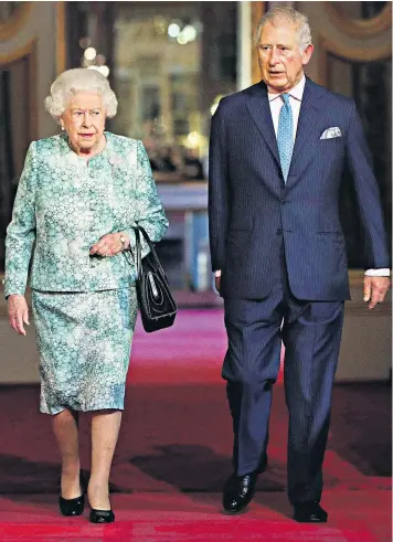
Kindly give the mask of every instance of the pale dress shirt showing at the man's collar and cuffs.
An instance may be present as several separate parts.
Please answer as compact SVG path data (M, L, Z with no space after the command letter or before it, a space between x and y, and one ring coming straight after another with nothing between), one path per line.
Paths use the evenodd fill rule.
M302 93L305 92L305 85L306 85L306 76L304 75L299 83L294 86L290 91L288 91L287 94L289 94L289 104L293 109L293 119L294 119L294 142L296 139L296 131L297 131L297 125L299 121L299 114L300 114L300 106L301 106L301 99L302 99ZM282 110L282 107L284 105L284 99L282 98L280 94L267 94L268 100L269 100L269 106L270 106L270 113L272 113L272 119L273 119L273 126L274 126L274 131L277 137L277 131L278 131L278 117L279 113ZM390 269L367 269L364 272L364 275L369 277L389 277L391 274ZM215 272L215 276L219 277L221 275L221 272Z

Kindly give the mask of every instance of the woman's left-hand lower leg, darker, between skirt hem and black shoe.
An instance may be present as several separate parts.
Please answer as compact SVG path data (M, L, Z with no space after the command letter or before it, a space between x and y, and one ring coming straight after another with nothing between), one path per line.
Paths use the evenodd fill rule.
M65 408L53 416L52 424L62 458L61 495L75 499L81 496L78 413Z

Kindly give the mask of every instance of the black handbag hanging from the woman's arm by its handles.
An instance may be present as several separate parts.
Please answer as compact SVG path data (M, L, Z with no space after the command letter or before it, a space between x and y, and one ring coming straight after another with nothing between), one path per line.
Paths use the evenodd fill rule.
M135 226L137 296L144 329L148 333L172 326L178 307L169 289L167 275L162 269L149 235L141 226ZM149 245L150 252L141 257L140 234ZM129 262L130 263L130 262Z

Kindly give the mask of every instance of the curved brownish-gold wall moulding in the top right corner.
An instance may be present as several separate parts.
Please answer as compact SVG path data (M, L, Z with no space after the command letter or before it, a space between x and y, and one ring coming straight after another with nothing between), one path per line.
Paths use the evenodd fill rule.
M358 40L373 38L392 28L392 2L372 19L352 19L343 10L341 2L323 2L329 19L343 34Z

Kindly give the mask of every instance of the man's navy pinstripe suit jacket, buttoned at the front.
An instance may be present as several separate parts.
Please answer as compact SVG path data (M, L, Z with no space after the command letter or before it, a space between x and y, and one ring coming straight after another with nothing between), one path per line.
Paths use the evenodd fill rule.
M327 128L341 137L320 139ZM291 293L350 298L339 187L349 160L364 227L367 268L389 267L379 188L354 102L307 78L286 184L264 83L221 99L212 119L210 246L225 297L261 299L284 254Z

